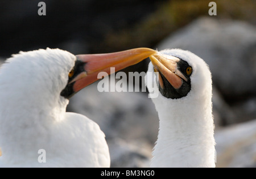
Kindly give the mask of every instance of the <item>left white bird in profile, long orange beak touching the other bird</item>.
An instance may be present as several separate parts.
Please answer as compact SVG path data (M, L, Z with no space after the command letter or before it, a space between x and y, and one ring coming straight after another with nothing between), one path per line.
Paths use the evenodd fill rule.
M100 71L121 70L152 53L75 56L47 48L7 59L0 68L0 167L110 167L104 133L89 118L65 112L68 99Z

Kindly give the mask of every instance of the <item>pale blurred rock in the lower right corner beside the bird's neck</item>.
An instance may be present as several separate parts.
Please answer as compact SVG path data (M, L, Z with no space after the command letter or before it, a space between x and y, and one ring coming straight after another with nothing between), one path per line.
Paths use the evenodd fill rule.
M216 167L256 166L256 120L216 131Z

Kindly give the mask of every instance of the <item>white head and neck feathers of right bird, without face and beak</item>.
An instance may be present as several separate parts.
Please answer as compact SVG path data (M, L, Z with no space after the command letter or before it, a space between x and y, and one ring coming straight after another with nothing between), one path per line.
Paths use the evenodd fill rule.
M215 167L212 78L208 65L195 54L180 49L163 50L158 56L183 59L193 73L186 96L168 99L159 93L152 98L159 114L159 134L151 167ZM154 73L157 66L150 62L147 80L159 83L157 75L151 78L148 74ZM159 90L160 86L155 88Z

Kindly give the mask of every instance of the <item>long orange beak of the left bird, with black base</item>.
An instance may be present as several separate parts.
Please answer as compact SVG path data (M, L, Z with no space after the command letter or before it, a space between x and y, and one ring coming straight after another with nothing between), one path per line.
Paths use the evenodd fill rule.
M115 53L77 55L74 72L76 75L71 75L68 87L61 92L61 95L69 98L82 88L96 82L100 72L106 72L109 75L113 73L110 71L111 67L115 68L114 72L119 71L155 53L156 51L152 49L137 48Z

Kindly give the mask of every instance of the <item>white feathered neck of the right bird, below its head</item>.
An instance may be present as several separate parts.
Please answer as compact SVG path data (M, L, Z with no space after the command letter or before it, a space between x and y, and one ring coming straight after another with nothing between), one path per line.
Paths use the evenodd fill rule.
M154 103L160 121L151 166L214 167L211 99L171 100L159 95Z

